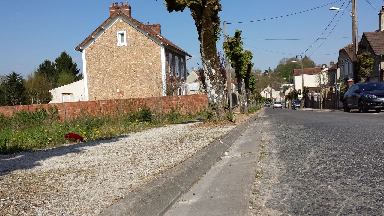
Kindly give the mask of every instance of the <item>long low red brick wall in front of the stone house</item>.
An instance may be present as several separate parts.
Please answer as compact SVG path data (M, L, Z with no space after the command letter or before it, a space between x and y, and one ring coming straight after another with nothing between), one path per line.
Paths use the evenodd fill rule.
M90 115L98 115L112 113L117 110L136 110L144 105L152 110L164 112L169 112L172 108L174 110L179 108L181 113L186 113L188 111L197 113L200 109L203 109L204 106L208 108L208 100L206 94L195 94L118 100L45 103L21 106L0 106L0 113L3 113L4 116L12 116L12 113L21 110L35 111L35 108L38 108L38 110L40 110L40 108L46 108L46 110L48 110L52 106L57 106L60 119L64 120L80 115L82 111L85 111Z

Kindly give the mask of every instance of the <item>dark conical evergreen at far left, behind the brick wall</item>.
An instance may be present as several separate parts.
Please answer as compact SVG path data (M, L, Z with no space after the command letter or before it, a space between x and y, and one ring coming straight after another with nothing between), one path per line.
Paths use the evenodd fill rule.
M20 74L12 71L9 75L5 75L5 80L3 80L1 85L1 105L14 106L24 104L24 91L24 80Z

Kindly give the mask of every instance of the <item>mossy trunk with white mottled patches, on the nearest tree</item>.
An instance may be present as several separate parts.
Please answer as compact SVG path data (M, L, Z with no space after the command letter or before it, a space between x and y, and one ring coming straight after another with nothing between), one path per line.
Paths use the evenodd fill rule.
M223 89L223 77L218 66L218 57L216 52L215 29L212 26L211 17L214 15L210 7L204 7L199 20L199 14L195 13L197 32L200 40L200 54L202 57L205 83L207 85L207 98L209 109L212 110L215 120L220 121L226 119L226 113L223 103L227 103L227 95Z

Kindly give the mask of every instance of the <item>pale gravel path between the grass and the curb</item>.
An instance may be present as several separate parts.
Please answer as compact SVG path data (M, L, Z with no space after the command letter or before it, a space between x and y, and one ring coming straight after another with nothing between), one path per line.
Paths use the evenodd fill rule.
M0 215L97 215L235 126L195 121L1 155Z

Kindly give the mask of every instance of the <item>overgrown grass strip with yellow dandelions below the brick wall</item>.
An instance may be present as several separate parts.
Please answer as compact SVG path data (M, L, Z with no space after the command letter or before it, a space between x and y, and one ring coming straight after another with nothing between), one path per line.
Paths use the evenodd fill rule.
M171 109L151 110L144 106L127 105L113 113L90 115L88 110L72 119L60 119L57 107L19 111L13 116L0 114L0 155L20 151L50 148L71 143L65 140L67 133L77 133L86 141L108 139L122 133L140 131L169 123L180 123L207 116L207 110L198 113L181 113Z

